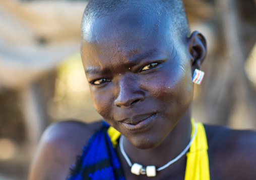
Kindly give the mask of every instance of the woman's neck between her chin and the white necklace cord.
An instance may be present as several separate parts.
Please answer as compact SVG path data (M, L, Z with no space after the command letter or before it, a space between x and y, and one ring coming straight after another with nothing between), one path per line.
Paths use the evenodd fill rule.
M124 137L124 150L132 163L161 167L179 155L187 146L192 131L190 119L189 108L163 142L155 148L139 149Z

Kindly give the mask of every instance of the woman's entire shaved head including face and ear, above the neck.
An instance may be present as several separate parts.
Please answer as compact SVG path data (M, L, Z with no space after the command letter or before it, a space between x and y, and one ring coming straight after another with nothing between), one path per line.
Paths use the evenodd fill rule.
M81 57L94 107L138 148L157 147L181 118L190 122L192 72L205 54L181 0L92 0L85 10ZM149 121L131 128L140 115Z

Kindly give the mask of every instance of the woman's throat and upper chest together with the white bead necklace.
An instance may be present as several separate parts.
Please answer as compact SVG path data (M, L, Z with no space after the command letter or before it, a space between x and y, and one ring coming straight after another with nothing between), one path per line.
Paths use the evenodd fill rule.
M185 132L189 132L189 130ZM131 175L132 170L132 173L140 176L142 174L147 176L158 174L158 179L159 175L168 175L170 177L177 172L184 175L186 166L185 153L189 150L197 131L195 129L192 138L190 138L191 127L188 134L185 132L180 133L179 131L176 134L175 130L173 130L159 146L152 149L139 149L125 137L121 136L117 152L124 173Z

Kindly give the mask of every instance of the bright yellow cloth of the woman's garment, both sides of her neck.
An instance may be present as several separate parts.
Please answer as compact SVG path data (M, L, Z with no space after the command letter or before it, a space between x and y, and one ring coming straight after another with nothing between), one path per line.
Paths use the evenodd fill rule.
M194 120L192 120L194 122ZM194 123L193 123L194 124ZM191 136L194 133L194 126ZM121 135L113 127L108 128L108 135L114 147L117 145L117 139ZM208 145L204 125L197 123L197 135L186 154L186 172L185 180L210 180Z

